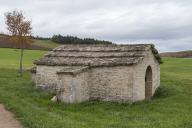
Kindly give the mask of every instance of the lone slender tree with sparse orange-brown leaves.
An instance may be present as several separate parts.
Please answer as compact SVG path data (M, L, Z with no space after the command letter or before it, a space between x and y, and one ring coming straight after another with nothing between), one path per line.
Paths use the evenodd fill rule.
M10 32L10 40L13 41L20 49L20 68L19 73L23 74L23 52L24 49L32 43L31 40L31 21L26 20L22 11L14 10L5 14L5 23L7 30Z

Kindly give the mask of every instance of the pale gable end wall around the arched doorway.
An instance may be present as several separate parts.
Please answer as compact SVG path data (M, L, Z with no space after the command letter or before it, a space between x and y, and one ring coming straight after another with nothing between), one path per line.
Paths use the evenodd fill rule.
M152 68L152 95L160 85L160 65L155 59L151 50L146 53L146 57L137 65L133 66L133 102L145 99L145 75L148 66Z

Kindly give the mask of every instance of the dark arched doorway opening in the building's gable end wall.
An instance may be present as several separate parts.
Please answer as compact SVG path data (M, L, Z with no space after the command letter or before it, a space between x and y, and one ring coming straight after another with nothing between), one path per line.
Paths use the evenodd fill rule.
M147 67L145 74L145 99L149 100L152 97L152 69Z

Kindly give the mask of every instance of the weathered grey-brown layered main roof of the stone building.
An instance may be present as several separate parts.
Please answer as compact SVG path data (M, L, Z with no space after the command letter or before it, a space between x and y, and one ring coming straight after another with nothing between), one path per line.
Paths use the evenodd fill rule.
M135 45L62 45L35 61L48 66L118 66L133 65L141 61L146 51L152 50L158 62L161 58L151 44Z

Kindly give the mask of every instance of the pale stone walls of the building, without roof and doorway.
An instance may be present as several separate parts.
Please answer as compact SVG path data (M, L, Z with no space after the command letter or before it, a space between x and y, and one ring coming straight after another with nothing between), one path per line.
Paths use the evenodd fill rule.
M57 74L69 66L37 66L37 87L57 92L62 102L86 100L134 102L145 99L145 74L152 68L152 94L160 85L160 67L151 50L137 65L95 67L77 75ZM34 79L34 78L33 78Z

